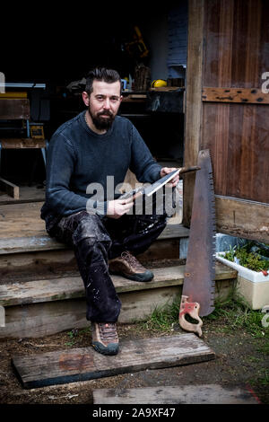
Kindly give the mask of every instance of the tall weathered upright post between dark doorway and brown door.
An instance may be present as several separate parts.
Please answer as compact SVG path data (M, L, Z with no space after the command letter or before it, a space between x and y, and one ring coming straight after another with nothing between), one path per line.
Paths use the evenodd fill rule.
M187 84L184 165L196 165L202 119L204 0L188 1ZM195 174L183 176L183 225L190 226Z

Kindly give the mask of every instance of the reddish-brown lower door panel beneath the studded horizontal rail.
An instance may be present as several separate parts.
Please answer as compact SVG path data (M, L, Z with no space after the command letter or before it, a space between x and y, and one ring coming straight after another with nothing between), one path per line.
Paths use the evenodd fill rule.
M214 191L269 203L268 106L204 102L203 144L213 162Z

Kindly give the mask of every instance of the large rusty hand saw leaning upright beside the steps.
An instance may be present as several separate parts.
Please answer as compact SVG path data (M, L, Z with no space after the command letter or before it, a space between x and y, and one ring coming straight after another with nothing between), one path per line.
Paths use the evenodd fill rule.
M210 152L200 151L196 172L184 285L179 310L182 329L202 336L200 316L213 312L215 290L215 204ZM197 323L186 320L186 314ZM200 315L200 316L199 316Z

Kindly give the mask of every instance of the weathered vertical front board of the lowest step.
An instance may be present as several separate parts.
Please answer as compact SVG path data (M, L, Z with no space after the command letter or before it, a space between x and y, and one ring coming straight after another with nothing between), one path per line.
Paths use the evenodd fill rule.
M216 299L226 300L235 279L216 281ZM122 303L120 323L144 321L156 307L166 306L180 297L182 285L119 293ZM5 326L0 338L40 338L65 330L89 327L85 298L7 306Z

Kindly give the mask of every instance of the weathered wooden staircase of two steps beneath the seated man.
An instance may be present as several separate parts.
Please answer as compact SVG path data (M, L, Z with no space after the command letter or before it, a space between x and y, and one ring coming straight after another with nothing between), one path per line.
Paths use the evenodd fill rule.
M0 207L0 306L5 314L0 338L40 337L89 325L74 252L48 236L39 217L41 205ZM120 322L142 320L156 306L180 295L185 266L178 259L179 242L188 233L171 218L149 251L139 257L152 268L152 282L112 278L122 302ZM236 277L235 270L217 263L217 295L227 295Z

